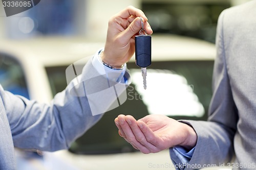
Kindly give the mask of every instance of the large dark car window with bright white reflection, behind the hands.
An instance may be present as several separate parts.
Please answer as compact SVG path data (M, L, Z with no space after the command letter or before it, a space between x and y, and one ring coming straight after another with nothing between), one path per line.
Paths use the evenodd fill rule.
M165 114L168 115L168 113L172 112L172 108L177 105L173 104L173 107L172 103L167 105L168 101L166 100L168 100L168 97L169 99L172 98L173 101L175 101L175 99L178 97L180 98L179 101L181 103L179 104L179 107L176 107L176 109L180 108L180 110L182 110L183 108L188 108L188 110L193 110L191 107L194 107L195 105L188 105L191 103L184 102L187 101L187 96L193 96L193 100L196 101L195 104L197 107L201 107L201 110L199 109L199 113L186 113L183 109L183 114L169 114L168 116L175 119L187 118L206 120L206 113L208 111L211 99L211 77L213 65L213 60L153 62L152 65L148 67L148 89L143 89L145 92L150 94L145 94L140 90L140 86L143 88L140 68L136 66L135 63L127 63L127 67L130 69L132 75L132 84L127 87L126 102L120 107L105 113L102 119L100 119L95 126L89 129L87 133L78 138L72 144L70 151L76 154L109 154L136 151L131 144L127 143L118 135L118 129L114 124L115 117L117 117L119 114L130 114L136 119L139 119L145 115L152 114L152 111L149 109L150 106L154 106L153 114L157 114L158 110L158 114L162 114L161 109L165 109L165 111L167 110ZM53 94L56 94L57 92L66 88L67 83L65 71L67 67L68 66L46 68L49 80L51 82ZM140 76L136 76L136 74ZM152 82L152 80L150 81L150 77L153 74L157 74L157 76L154 78L156 79L154 82L155 89L150 90L150 82ZM162 78L159 76L160 74ZM163 79L163 82L165 81L164 79L172 79L172 81L168 81L167 84L163 84L160 82L161 79ZM175 80L179 80L182 83L179 84L179 82L177 83ZM191 95L181 96L182 91L180 91L180 93L176 93L180 96L174 96L174 91L177 90L170 89L175 87L173 86L174 84L177 85L176 87L186 85L187 88L184 89L188 90L187 94ZM151 100L151 103L148 103L148 96L152 95L152 91L159 91L160 95L158 95L158 98L155 99L155 102L154 100ZM163 91L165 91L165 93ZM165 98L162 97L164 95ZM166 95L173 96L166 97Z

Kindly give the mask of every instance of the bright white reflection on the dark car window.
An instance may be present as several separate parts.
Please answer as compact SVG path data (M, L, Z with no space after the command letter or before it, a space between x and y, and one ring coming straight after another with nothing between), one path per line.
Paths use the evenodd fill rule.
M205 114L203 105L194 93L194 85L189 85L185 77L169 70L147 69L147 89L142 86L142 76L138 69L131 74L140 100L147 106L149 114L167 116L196 116Z

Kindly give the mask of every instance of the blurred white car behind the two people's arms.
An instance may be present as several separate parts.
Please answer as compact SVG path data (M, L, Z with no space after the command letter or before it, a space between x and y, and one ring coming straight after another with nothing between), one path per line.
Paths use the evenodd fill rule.
M66 68L103 46L103 42L85 38L1 40L0 83L15 94L49 103L53 95L67 86ZM147 114L165 114L176 119L205 120L215 56L212 43L152 35L147 89L143 89L141 69L133 57L127 63L132 84L127 87L123 105L105 113L68 151L17 149L18 169L175 169L168 150L145 155L133 149L118 135L114 118L119 114L131 114L137 119Z

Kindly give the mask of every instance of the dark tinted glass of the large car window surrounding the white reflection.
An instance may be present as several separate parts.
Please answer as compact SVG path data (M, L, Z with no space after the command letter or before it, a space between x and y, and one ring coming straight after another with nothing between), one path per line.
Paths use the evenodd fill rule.
M211 99L211 77L214 61L159 61L153 62L148 67L148 77L150 72L156 70L156 72L172 72L173 75L179 75L186 80L187 85L195 93L198 98L198 102L203 106L203 115L189 116L184 115L170 115L175 119L199 119L205 120L207 118L207 111ZM140 71L140 68L135 63L127 63L127 67L131 69L131 74L135 70ZM60 67L47 67L47 73L51 82L53 94L66 88L66 75L65 70L67 66ZM142 76L139 78L142 83ZM175 82L173 82L175 83ZM145 104L139 93L138 84L133 83L127 87L127 100L120 107L117 107L104 114L102 119L93 126L87 133L78 138L71 146L70 151L76 154L109 154L109 153L121 153L121 152L133 152L131 144L127 143L123 138L118 135L118 129L114 124L114 119L119 114L130 114L136 119L139 119L145 115L150 114L148 106ZM150 86L148 84L148 86ZM168 85L162 85L159 82L158 88L168 87ZM158 89L154 89L158 90ZM170 89L164 89L169 91ZM171 94L172 95L172 94ZM163 99L155 99L161 101ZM184 104L185 105L185 104ZM182 106L182 105L181 105ZM183 106L187 107L187 106ZM168 109L172 107L168 106ZM161 114L161 112L159 113Z

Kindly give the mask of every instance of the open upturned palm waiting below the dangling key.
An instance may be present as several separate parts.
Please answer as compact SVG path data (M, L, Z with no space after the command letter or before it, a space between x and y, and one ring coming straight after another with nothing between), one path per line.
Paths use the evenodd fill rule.
M119 115L115 123L120 136L145 154L186 145L190 133L189 126L165 115L147 115L138 121L131 115Z

